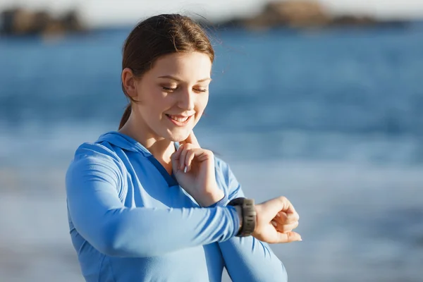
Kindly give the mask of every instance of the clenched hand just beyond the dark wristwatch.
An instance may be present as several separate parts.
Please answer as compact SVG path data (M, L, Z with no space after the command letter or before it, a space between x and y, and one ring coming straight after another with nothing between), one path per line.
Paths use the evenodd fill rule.
M286 197L277 197L256 205L257 223L252 235L266 243L290 243L301 241L293 232L298 226L298 213Z

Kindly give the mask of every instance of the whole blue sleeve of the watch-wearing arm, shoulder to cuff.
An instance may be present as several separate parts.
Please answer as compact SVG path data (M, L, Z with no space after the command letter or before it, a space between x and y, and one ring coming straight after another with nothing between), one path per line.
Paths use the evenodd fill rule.
M122 178L116 159L84 152L75 157L66 173L68 212L73 226L106 255L158 256L223 242L238 231L238 214L233 207L125 207L118 196Z

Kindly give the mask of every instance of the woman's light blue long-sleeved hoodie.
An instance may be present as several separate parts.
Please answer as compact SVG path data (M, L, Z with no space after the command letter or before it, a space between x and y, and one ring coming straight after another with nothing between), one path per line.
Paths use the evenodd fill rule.
M176 144L178 147L178 144ZM86 281L287 281L269 245L235 237L229 200L244 197L215 157L225 197L200 207L133 138L111 131L83 143L66 173L68 221Z

